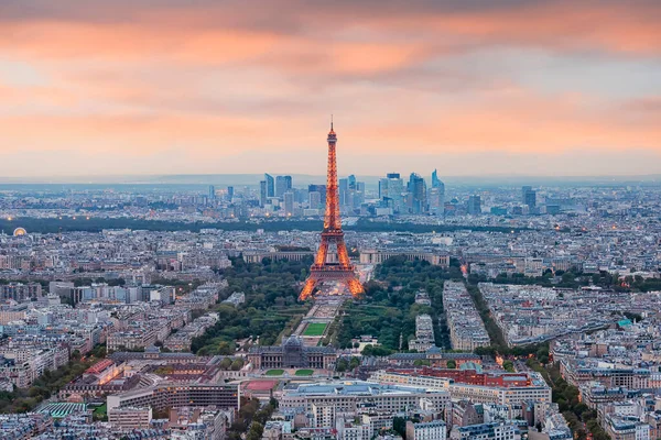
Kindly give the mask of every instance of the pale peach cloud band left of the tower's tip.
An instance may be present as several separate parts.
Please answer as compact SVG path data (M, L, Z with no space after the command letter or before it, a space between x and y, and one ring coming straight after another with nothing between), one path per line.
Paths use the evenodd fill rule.
M15 116L0 119L0 153L24 150L89 152L144 156L182 148L205 157L254 145L286 148L292 120L162 114ZM300 139L297 133L296 138Z

